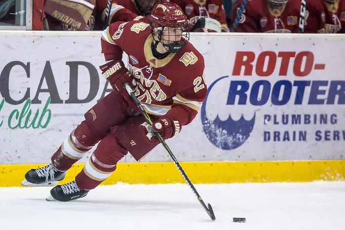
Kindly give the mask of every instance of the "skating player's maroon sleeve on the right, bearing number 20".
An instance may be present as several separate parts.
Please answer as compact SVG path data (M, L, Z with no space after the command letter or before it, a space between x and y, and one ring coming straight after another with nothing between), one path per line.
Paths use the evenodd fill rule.
M189 71L187 71L186 78L183 80L183 87L173 97L171 109L166 114L172 119L179 120L181 125L187 125L192 122L207 94L204 59L196 50L194 52L186 52L184 55L190 56L191 54L197 57L197 61L188 68ZM182 55L180 60L184 59L184 55Z

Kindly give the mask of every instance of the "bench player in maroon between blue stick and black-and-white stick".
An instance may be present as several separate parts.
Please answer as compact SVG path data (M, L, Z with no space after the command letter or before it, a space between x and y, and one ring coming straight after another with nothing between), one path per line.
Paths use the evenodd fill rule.
M242 1L233 8L231 21ZM301 0L248 0L235 32L298 33Z

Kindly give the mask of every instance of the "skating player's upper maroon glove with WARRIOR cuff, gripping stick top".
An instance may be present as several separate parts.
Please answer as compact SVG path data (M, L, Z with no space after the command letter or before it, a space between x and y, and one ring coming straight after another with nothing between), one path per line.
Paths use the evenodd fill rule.
M128 82L132 88L135 88L137 82L121 60L111 60L99 68L102 71L103 77L109 81L113 89L123 96L128 95L123 87L124 82Z

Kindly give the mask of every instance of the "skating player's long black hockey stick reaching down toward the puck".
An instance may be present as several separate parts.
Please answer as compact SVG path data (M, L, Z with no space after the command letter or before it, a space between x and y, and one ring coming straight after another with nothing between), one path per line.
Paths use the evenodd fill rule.
M138 98L135 96L134 94L134 90L129 86L129 84L127 82L123 83L123 86L125 87L125 89L127 90L127 92L129 93L129 95L132 97L132 99L134 100L135 104L138 106L138 108L140 109L141 113L144 115L146 121L152 125L152 120L150 118L150 116L146 113L146 111L144 110L143 106L141 105L140 101L138 100ZM197 199L199 200L199 202L201 203L202 207L205 209L205 211L207 212L207 214L210 216L211 220L216 220L216 217L213 213L213 209L211 207L211 204L208 204L208 208L206 207L206 204L204 203L204 201L202 200L201 196L199 195L199 193L196 191L196 189L194 188L192 182L190 181L190 179L188 178L188 176L186 175L185 171L182 169L180 163L177 161L177 159L175 158L174 154L171 152L170 148L168 147L168 145L165 143L163 137L159 134L155 132L155 135L157 136L158 140L160 141L160 143L162 143L162 145L164 146L165 150L170 154L171 158L173 159L176 167L179 169L180 173L182 174L183 178L186 180L186 182L188 183L188 185L190 186L190 188L192 189L192 191L194 192L194 194L196 195Z

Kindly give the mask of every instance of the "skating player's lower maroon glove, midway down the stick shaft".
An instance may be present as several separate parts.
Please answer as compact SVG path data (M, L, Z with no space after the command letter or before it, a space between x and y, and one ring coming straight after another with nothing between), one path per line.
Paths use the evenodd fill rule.
M140 132L147 137L146 141L151 144L158 144L159 140L154 132L159 132L164 140L176 136L181 131L178 120L171 120L167 116L161 116L153 122L151 126L148 122L144 122L139 126Z

